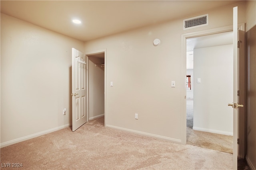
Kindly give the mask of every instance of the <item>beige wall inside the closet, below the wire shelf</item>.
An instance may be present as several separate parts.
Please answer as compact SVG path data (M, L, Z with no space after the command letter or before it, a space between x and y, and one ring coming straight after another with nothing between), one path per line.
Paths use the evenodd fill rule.
M104 64L104 59L88 58L89 120L104 115L104 67L95 64Z

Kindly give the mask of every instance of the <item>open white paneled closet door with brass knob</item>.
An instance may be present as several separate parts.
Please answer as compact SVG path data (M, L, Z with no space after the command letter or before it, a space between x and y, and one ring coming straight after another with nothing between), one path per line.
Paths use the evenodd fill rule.
M85 55L72 48L72 131L87 120Z

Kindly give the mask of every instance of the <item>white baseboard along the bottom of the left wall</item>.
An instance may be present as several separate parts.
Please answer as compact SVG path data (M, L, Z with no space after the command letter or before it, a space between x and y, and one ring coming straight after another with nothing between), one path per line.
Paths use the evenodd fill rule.
M35 133L35 134L32 134L32 135L28 135L26 137L21 137L21 138L18 138L18 139L14 139L12 141L8 141L8 142L4 142L4 143L1 143L0 144L0 148L3 148L3 147L7 147L9 145L13 145L15 143L19 143L19 142L22 142L22 141L26 141L28 139L32 139L32 138L35 138L35 137L39 137L41 135L45 135L47 133L51 133L51 132L54 132L54 131L58 131L60 129L64 129L66 127L70 127L71 124L66 124L66 125L63 125L63 126L59 126L59 127L55 127L53 129L49 129L49 130L46 130L46 131L42 131L42 132L39 132L39 133Z

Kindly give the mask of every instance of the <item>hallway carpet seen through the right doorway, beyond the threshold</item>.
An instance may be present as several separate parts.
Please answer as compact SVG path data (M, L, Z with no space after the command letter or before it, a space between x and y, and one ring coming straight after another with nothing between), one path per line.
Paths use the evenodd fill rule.
M195 131L193 100L187 100L187 144L233 154L233 136Z

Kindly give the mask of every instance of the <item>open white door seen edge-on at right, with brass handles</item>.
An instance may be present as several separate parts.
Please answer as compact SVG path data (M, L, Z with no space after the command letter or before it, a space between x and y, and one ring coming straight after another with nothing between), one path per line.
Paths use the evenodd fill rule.
M234 55L234 83L233 83L233 103L228 106L233 107L233 169L237 169L237 158L238 158L238 111L239 107L244 107L242 104L238 104L239 96L239 58L238 58L238 7L233 8L233 55Z

